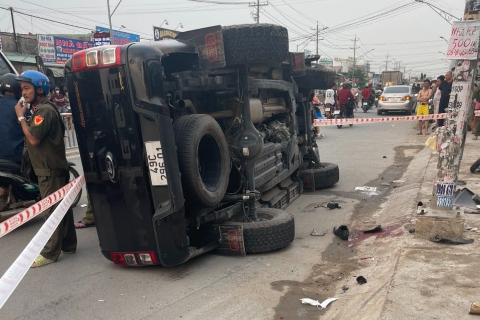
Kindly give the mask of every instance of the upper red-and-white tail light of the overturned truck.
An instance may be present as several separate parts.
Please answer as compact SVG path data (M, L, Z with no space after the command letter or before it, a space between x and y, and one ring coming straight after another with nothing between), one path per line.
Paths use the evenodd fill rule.
M72 71L109 68L122 64L120 50L122 46L101 46L75 52L72 55Z

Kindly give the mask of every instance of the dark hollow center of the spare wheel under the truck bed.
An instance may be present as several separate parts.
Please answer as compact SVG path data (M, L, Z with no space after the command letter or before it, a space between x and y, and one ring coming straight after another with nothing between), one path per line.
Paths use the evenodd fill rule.
M215 191L222 174L222 157L217 139L212 134L202 137L198 147L200 178L209 190Z

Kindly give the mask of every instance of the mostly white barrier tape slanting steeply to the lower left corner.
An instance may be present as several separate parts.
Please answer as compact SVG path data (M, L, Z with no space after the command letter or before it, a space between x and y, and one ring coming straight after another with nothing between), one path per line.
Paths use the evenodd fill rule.
M35 258L40 254L48 239L52 236L58 224L60 224L60 221L65 216L68 208L70 208L73 200L85 183L85 178L81 175L72 182L73 185L70 186L70 189L64 195L64 199L55 208L50 217L48 217L47 221L45 221L40 230L38 230L37 234L35 234L20 256L18 256L2 278L0 278L0 308L3 307L20 281L22 281L30 266L35 261Z

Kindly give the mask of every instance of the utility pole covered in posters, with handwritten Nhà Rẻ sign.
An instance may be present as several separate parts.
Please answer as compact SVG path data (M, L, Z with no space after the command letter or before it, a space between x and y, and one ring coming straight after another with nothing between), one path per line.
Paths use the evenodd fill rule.
M465 5L465 17L469 14L468 3ZM477 17L478 19L478 17ZM449 46L447 57L455 57L452 90L446 118L437 137L438 164L434 180L433 199L431 207L437 212L453 211L460 162L468 126L472 114L472 88L477 71L478 40L480 35L480 20L454 22L450 43L458 40L464 44L467 55L455 51L454 45ZM463 49L463 46L459 49ZM468 60L470 59L470 60ZM450 71L450 70L449 70Z

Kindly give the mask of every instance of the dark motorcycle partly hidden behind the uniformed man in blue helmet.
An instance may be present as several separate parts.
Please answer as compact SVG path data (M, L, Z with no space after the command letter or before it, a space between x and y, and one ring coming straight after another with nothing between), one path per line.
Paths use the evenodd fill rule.
M80 175L73 168L74 163L68 162L69 181L78 178ZM16 213L23 208L28 208L35 202L41 200L38 185L20 174L20 165L7 160L0 160L0 213ZM80 201L80 192L75 197L72 207ZM0 214L0 221L2 215Z

